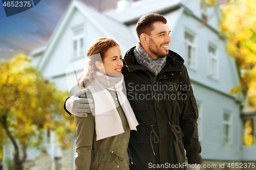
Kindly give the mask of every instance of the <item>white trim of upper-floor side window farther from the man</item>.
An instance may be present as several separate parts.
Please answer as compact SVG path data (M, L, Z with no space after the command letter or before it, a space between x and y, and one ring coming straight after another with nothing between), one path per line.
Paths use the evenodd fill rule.
M214 48L215 49L215 56L212 55L211 53L209 53L209 46ZM215 80L218 80L219 78L219 62L218 62L218 48L209 43L208 46L207 46L207 53L208 53L208 58L209 58L209 65L208 65L208 76L212 79L215 79ZM214 70L212 70L212 60L215 60L216 61L216 77L214 76Z

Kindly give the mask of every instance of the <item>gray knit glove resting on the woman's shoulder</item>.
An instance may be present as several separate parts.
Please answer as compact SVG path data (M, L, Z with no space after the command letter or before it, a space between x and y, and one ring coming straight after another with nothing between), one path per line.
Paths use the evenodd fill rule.
M87 88L77 91L66 101L66 109L75 116L87 117L87 113L91 113L91 108L94 108L93 100L86 98L79 98L89 90Z

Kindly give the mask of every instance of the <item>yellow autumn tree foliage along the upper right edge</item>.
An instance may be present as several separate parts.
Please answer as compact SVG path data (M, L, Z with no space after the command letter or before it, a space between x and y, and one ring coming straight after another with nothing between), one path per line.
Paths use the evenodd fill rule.
M240 70L241 88L231 93L245 94L247 105L256 107L256 1L232 0L222 7L221 31L227 50Z

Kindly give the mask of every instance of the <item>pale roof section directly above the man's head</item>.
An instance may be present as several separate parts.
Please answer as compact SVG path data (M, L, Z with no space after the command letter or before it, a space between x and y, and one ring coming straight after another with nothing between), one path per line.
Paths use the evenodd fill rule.
M139 20L139 18L148 13L162 13L170 11L176 7L179 7L182 0L143 0L136 3L132 3L131 6L124 10L109 10L104 12L105 15L115 18L122 23L133 22ZM130 11L130 12L125 12Z

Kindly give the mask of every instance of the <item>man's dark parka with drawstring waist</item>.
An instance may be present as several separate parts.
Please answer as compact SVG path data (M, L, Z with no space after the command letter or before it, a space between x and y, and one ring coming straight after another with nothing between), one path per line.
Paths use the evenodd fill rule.
M134 48L126 52L122 68L127 98L139 122L130 135L130 169L182 169L178 165L185 161L184 149L189 164L201 164L198 108L184 60L169 51L155 77L135 60Z

